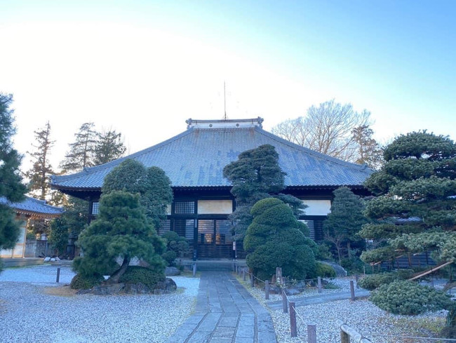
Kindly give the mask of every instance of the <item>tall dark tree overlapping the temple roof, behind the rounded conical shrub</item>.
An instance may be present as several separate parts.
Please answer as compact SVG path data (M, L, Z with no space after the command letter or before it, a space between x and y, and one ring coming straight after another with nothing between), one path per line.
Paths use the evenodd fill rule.
M234 223L234 236L241 241L253 220L250 209L259 200L276 196L292 206L295 214L304 208L294 196L279 194L285 188L285 173L279 166L279 154L270 144L239 154L237 161L223 168L223 176L233 184L236 210L230 216Z

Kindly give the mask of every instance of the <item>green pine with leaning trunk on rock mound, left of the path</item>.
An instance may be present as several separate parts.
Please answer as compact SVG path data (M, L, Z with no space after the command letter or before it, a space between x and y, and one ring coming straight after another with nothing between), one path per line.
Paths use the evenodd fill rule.
M79 235L83 257L76 257L74 269L84 276L104 275L123 259L121 275L133 257L138 257L152 269L163 270L160 255L165 250L152 225L147 222L138 194L112 191L100 199L100 213L96 220ZM119 274L114 273L118 281Z

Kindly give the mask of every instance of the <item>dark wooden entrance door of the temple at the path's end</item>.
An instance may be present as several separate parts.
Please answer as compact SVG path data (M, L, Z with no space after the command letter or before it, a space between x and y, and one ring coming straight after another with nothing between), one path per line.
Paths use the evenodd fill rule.
M232 257L232 234L229 220L198 220L198 257Z

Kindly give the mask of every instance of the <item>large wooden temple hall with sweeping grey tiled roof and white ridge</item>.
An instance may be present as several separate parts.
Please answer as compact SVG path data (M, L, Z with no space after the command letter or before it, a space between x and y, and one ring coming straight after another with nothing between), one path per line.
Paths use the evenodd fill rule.
M300 220L307 223L311 238L323 238L322 222L330 212L333 191L347 186L356 194L368 194L363 182L372 173L366 166L348 163L283 140L262 128L256 119L193 120L187 130L164 142L115 161L86 168L72 175L55 175L51 184L65 194L90 201L90 213L98 213L105 176L125 159L145 167L158 166L171 180L174 201L168 220L158 229L176 231L189 239L198 258L232 257L232 223L236 208L224 166L239 154L271 144L286 173L286 189L308 206Z

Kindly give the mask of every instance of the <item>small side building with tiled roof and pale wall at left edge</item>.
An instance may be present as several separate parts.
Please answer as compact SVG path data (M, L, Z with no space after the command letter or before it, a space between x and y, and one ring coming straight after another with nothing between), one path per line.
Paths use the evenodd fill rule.
M25 240L27 234L27 222L31 219L52 219L60 216L64 210L60 207L48 205L46 201L26 196L24 201L11 203L4 197L0 197L0 203L13 208L16 220L21 222L18 243L13 249L0 250L1 258L25 257Z

